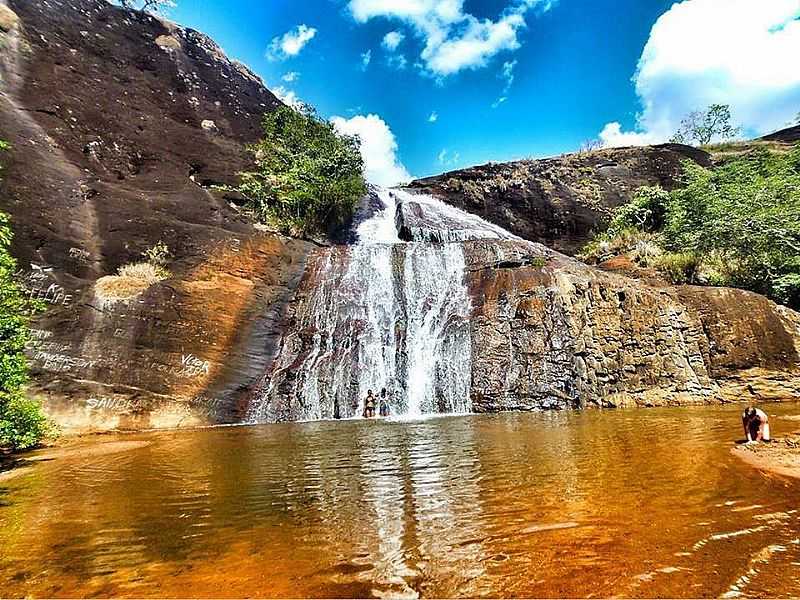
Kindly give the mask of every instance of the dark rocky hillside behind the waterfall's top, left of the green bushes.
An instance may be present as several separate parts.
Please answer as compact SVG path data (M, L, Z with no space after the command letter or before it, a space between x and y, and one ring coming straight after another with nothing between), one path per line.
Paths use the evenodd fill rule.
M643 185L672 189L681 162L709 164L695 148L618 148L453 171L409 188L433 194L511 233L574 255Z

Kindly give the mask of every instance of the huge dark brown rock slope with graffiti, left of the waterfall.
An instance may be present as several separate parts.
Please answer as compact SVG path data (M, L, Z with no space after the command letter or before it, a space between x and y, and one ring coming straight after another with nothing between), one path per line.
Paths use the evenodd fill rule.
M7 3L0 210L48 305L33 392L67 430L240 420L313 245L257 230L209 188L247 167L277 99L200 33L101 0ZM169 279L128 301L96 293L159 241Z

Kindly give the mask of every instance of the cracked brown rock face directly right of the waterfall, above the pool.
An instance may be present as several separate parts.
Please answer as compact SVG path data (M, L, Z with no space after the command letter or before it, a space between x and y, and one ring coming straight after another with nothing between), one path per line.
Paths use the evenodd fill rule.
M798 315L739 290L657 288L527 244L467 244L479 411L687 404L800 392ZM500 263L503 264L503 263ZM513 265L513 261L505 264Z

